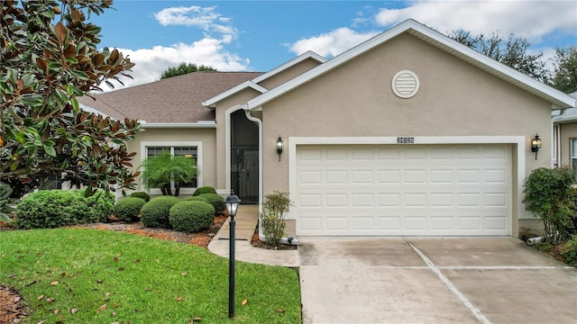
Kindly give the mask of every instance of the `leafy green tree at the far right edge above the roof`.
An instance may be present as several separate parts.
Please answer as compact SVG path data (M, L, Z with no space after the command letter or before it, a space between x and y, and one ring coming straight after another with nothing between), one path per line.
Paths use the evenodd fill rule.
M565 94L577 91L577 47L557 48L554 57L554 76L551 85Z

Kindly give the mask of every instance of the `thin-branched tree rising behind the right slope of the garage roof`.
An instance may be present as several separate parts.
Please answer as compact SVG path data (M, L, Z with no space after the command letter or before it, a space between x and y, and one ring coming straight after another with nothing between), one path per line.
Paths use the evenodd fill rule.
M514 33L505 39L499 31L473 36L470 31L458 30L450 32L449 37L540 82L547 83L551 78L543 52L531 54L528 50L531 43Z

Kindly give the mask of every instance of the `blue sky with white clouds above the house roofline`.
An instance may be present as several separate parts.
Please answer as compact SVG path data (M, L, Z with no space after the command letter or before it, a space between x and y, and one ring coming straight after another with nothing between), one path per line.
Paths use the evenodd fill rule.
M577 44L575 0L115 0L113 6L90 20L102 27L103 47L121 49L136 63L127 86L158 80L185 61L266 72L307 50L332 58L408 18L443 33L514 32L547 57L555 47Z

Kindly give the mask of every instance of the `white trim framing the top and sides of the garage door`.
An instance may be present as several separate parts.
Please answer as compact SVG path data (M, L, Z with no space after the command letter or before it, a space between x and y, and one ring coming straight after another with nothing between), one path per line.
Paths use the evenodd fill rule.
M352 145L352 144L371 144L371 145L399 145L397 144L397 137L289 137L289 198L295 201L297 193L297 148L301 145ZM517 193L516 197L511 196L513 202L517 206L511 205L511 212L517 210L517 220L533 219L525 211L523 206L523 180L526 175L526 139L525 136L417 136L415 137L415 144L435 145L435 144L513 144L513 170L517 170L517 188L511 188L513 193ZM515 149L517 148L517 152ZM517 153L517 154L515 154ZM517 190L516 190L517 189ZM517 207L517 208L515 208ZM297 220L296 215L289 211L287 215L288 220ZM508 220L508 229L513 230L513 220Z

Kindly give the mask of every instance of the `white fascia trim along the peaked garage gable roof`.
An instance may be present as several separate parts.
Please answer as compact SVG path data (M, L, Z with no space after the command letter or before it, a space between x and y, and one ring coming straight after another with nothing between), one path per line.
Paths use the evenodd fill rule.
M271 89L269 92L257 96L247 103L247 107L250 110L261 109L263 104L274 100L282 94L288 93L300 85L306 84L314 78L331 71L335 67L343 65L353 58L362 55L364 52L371 50L388 40L391 40L403 32L408 32L439 49L443 49L444 51L461 58L494 76L498 76L499 78L506 80L513 85L517 85L529 93L535 94L536 96L558 106L554 107L554 109L575 106L575 100L569 95L563 94L561 91L558 91L549 85L542 84L530 76L526 76L511 67L488 58L474 49L471 49L456 40L450 39L438 31L434 31L421 23L417 23L415 20L408 19L407 21L390 28L388 31L384 31L370 40L366 40L353 49L349 49L343 52L343 54L328 60L320 66L312 68L306 73L289 80L283 85L279 85L276 88Z

